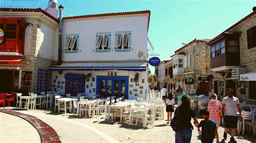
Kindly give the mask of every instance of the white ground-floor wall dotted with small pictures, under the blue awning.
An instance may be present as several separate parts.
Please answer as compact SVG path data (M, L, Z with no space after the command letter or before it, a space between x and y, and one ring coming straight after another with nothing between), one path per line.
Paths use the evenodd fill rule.
M146 92L147 92L147 71L144 72L134 72L134 71L115 71L117 72L117 76L129 76L129 85L128 85L128 94L129 94L129 99L137 99L137 97L143 97L145 98ZM60 75L58 74L58 71L52 71L52 84L51 84L51 90L54 91L55 88L57 89L57 92L60 92L61 94L65 94L65 84L62 84L62 82L65 83L65 74L92 74L92 77L95 77L95 81L92 82L92 77L90 77L90 81L86 82L85 81L85 94L86 95L96 95L96 92L91 92L93 91L93 88L95 88L96 91L96 81L97 81L97 75L99 76L107 76L107 71L63 71L63 73ZM136 86L135 82L131 82L131 78L134 78L134 75L136 73L139 73L139 86ZM56 79L57 76L57 79ZM144 83L142 83L142 79L144 79ZM56 82L54 82L56 80ZM60 84L58 84L60 82ZM91 86L92 83L92 86ZM86 88L86 85L89 85L89 88ZM130 87L130 85L133 85L133 87ZM55 86L55 87L53 87ZM57 88L59 86L59 88ZM62 86L62 89L61 89ZM143 86L143 89L140 89L139 87ZM133 91L133 89L137 89L137 91ZM130 94L130 90L132 91L132 94ZM140 90L142 90L143 94L140 94ZM135 96L135 94L138 94L138 96Z

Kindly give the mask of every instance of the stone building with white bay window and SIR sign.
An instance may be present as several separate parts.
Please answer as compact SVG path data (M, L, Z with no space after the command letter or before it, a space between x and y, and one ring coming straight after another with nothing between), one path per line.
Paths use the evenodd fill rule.
M175 51L173 59L173 80L176 87L186 92L196 89L196 94L208 95L210 76L209 39L194 39Z

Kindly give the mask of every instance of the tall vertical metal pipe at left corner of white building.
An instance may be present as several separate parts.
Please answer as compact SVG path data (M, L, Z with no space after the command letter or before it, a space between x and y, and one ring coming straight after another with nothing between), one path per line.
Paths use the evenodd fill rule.
M58 43L58 66L62 65L62 13L64 7L59 5L59 43Z

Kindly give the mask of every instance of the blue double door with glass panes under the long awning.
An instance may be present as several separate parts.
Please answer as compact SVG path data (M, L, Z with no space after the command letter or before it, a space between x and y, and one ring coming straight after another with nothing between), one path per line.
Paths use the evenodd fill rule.
M102 98L128 98L128 79L129 76L97 76L96 94Z

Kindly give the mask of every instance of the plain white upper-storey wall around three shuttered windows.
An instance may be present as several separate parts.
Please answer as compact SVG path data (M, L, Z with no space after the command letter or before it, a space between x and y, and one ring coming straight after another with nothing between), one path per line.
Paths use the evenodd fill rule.
M115 37L118 31L131 31L131 51L115 52ZM109 52L96 52L96 33L111 32ZM147 17L119 17L63 22L62 45L66 34L79 34L77 53L66 53L62 48L63 61L147 60ZM139 57L138 52L143 52ZM57 60L57 51L54 51ZM109 56L111 55L111 57Z

